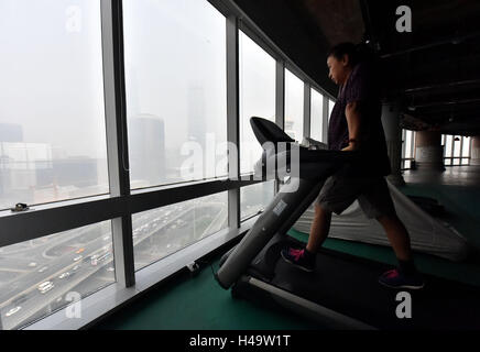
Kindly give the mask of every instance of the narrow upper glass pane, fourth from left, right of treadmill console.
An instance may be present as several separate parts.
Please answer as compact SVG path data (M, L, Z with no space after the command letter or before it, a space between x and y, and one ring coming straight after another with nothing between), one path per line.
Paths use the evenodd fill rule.
M304 82L285 69L285 133L302 142L304 135Z

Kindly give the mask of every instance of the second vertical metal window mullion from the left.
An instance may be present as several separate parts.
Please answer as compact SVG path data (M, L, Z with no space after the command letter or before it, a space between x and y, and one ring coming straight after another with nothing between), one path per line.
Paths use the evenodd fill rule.
M239 111L239 30L238 18L227 18L227 140L237 146L228 153L228 176L240 179L240 111ZM240 188L228 191L228 223L230 229L240 227Z

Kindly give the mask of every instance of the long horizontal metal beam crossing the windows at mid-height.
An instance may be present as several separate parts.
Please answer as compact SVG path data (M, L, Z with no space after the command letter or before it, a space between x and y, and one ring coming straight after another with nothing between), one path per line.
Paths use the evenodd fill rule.
M201 182L159 190L146 189L130 196L101 196L31 207L22 213L3 211L0 213L0 248L258 183L228 179Z

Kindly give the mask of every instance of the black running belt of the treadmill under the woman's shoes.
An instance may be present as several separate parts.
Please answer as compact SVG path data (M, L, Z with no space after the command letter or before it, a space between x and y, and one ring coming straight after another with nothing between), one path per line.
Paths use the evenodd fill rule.
M276 240L275 248L280 243L301 244L295 240ZM317 255L313 273L285 263L280 253L277 257L269 284L375 328L480 328L478 287L425 275L426 286L421 290L392 289L378 283L379 276L392 268L390 265L328 250ZM249 274L258 276L254 271ZM401 292L411 295L412 318L396 316L397 306L404 302L396 300Z

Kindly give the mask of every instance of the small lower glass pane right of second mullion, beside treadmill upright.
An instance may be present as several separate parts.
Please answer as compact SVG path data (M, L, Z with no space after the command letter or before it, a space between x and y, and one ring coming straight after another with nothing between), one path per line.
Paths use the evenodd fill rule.
M240 218L249 218L264 210L274 196L273 180L240 188Z

